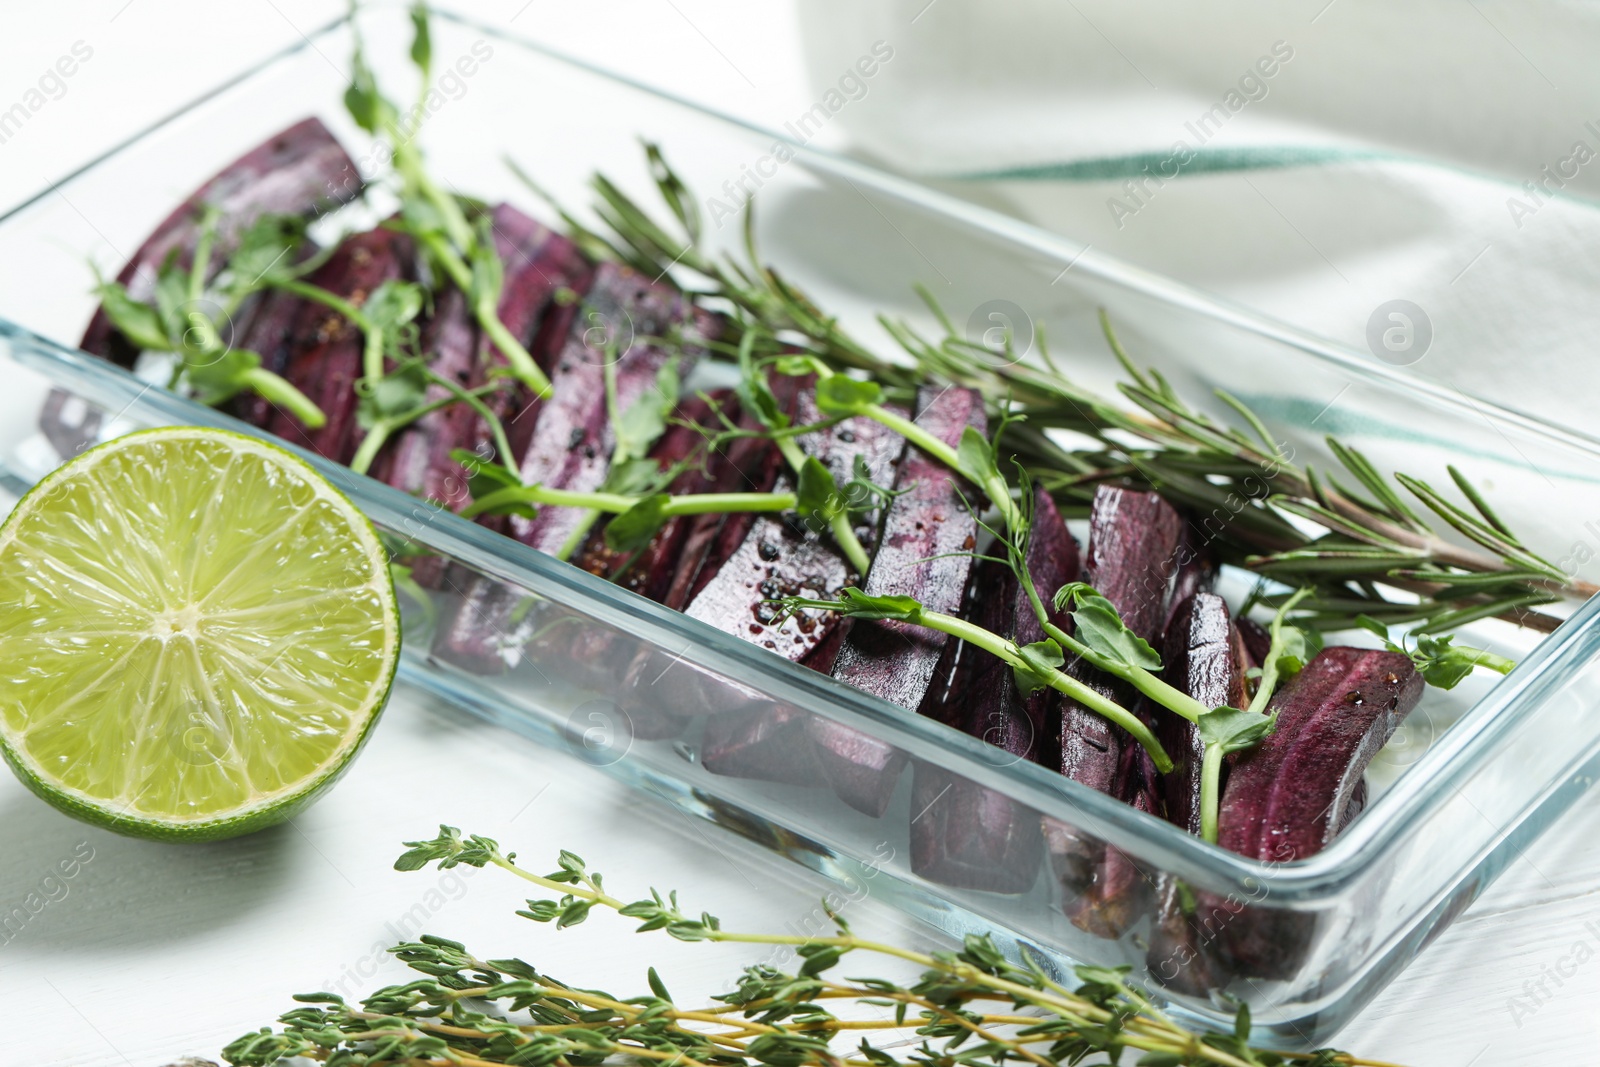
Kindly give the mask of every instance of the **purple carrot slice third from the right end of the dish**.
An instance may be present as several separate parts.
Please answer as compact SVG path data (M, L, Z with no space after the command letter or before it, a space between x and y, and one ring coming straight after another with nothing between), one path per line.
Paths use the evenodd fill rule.
M1152 643L1160 638L1165 621L1182 531L1182 517L1155 493L1109 485L1094 491L1085 581L1110 600L1130 630ZM1083 662L1072 662L1067 670L1123 707L1134 704L1131 686L1114 683ZM1062 697L1056 707L1059 747L1054 757L1061 773L1102 793L1128 793L1126 782L1118 789L1118 771L1126 771L1122 749L1131 741L1077 701ZM1082 915L1082 923L1098 926L1096 917L1112 912L1086 893L1099 875L1104 841L1056 819L1045 819L1045 843L1061 883L1062 909L1074 921Z

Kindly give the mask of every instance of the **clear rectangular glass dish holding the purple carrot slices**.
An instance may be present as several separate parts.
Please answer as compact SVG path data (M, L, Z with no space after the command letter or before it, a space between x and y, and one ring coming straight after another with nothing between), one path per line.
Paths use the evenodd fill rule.
M405 13L362 19L379 78L408 91ZM326 122L363 168L381 158L339 109L349 48L344 21L323 27L0 216L0 490L14 498L59 462L35 427L53 387L77 398L74 414L75 405L99 411L101 437L158 424L254 432L70 347L93 309L86 261L120 267L182 195L301 117ZM1587 438L1406 379L875 171L822 147L827 131L779 150L776 133L461 16L435 21L434 53L437 69L458 74L421 136L435 171L461 190L539 213L506 168L509 155L565 205L587 202L597 170L650 202L638 141L659 142L691 189L725 206L758 187L765 258L872 342L886 344L878 310L920 320L910 285L922 282L978 331L1000 322L994 315L1013 330L1027 326L1027 338L1046 330L1058 360L1109 392L1117 366L1098 333L1104 307L1136 358L1194 400L1214 387L1243 397L1301 461L1326 466L1322 434L1336 432L1386 470L1437 482L1456 462L1515 515L1533 549L1594 576L1600 446ZM475 62L458 69L461 56ZM702 211L715 242L739 240L717 203L707 200ZM314 462L397 549L450 563L443 592L405 600L406 685L571 750L829 877L858 886L872 878L874 897L950 934L989 931L1008 952L1029 949L1053 966L1130 965L1174 1011L1208 1024L1230 1025L1237 1001L1248 1001L1266 1041L1323 1043L1589 787L1600 760L1600 605L1579 608L1544 641L1482 624L1467 640L1522 657L1518 669L1498 685L1474 678L1448 694L1429 691L1374 761L1373 801L1328 849L1285 865L1248 861L378 482ZM434 619L458 609L459 590L480 579L522 605L515 640L528 651L507 673L477 675L429 654ZM1246 582L1226 574L1222 590L1237 603ZM774 731L787 758L746 766L744 777L704 766L707 731L750 728ZM810 737L829 729L858 731L896 753L902 771L882 816L853 809L805 769ZM966 877L968 885L920 877L912 867L917 822L958 803L1005 805L1021 824L1093 835L1152 883L1176 878L1197 899L1219 902L1206 939L1264 939L1272 958L1210 993L1187 995L1174 974L1189 961L1181 949L1152 949L1147 918L1118 939L1074 926L1037 848Z

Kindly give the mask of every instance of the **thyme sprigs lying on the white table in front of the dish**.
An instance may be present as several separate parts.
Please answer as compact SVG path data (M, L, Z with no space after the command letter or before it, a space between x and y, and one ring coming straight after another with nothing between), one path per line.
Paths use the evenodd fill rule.
M278 1030L240 1037L224 1057L237 1067L293 1056L363 1067L598 1067L614 1059L683 1067L1054 1067L1096 1053L1117 1062L1131 1049L1150 1067L1386 1067L1336 1049L1253 1048L1245 1006L1230 1033L1194 1033L1130 982L1126 968L1075 968L1077 984L1067 985L1026 950L1021 963L1006 960L987 936L968 936L958 952L912 952L858 936L832 910L832 936L730 931L714 915L685 912L675 893L618 897L573 853L538 875L496 841L448 825L432 840L408 843L395 867L434 864L496 867L538 886L544 894L517 912L538 923L576 926L598 907L637 920L638 933L790 947L798 968L749 966L710 1005L683 1008L654 968L645 973L648 993L618 997L570 985L520 958L486 960L461 942L424 936L390 949L422 977L379 989L360 1005L333 993L296 997L301 1006L278 1019ZM846 957L872 955L922 973L909 984L834 976ZM869 1008L870 1017L848 1014L853 1006ZM874 1043L874 1035L893 1038L907 1027L920 1043L902 1049L904 1059L888 1041Z

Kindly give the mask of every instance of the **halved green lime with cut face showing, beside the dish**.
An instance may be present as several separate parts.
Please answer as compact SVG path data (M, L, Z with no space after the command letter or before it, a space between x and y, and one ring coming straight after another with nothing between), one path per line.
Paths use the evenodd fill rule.
M112 830L208 840L288 819L362 747L398 651L371 523L242 434L128 434L0 526L0 752Z

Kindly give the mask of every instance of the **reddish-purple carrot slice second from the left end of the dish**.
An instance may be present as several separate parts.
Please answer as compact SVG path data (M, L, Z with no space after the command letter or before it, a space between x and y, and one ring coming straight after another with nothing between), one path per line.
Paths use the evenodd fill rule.
M344 238L307 282L355 306L384 282L405 277L411 238L386 229ZM334 462L349 462L362 440L355 422L355 379L362 376L362 331L322 304L306 301L294 315L285 378L322 408L328 421L307 429L277 408L267 429Z

